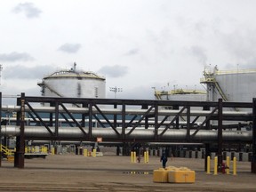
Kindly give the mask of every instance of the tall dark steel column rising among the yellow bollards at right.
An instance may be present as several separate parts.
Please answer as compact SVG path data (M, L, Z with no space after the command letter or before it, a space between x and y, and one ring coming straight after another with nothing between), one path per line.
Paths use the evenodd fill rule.
M219 107L218 107L218 171L221 172L221 166L222 166L222 119L223 119L223 103L222 103L222 99L219 99L219 103L218 103Z

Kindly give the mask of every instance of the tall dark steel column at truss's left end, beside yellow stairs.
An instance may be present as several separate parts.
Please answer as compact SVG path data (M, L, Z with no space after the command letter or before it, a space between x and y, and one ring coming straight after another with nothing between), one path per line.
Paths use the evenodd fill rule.
M25 93L21 93L20 97L20 136L16 139L16 152L14 156L14 167L24 168L25 154Z

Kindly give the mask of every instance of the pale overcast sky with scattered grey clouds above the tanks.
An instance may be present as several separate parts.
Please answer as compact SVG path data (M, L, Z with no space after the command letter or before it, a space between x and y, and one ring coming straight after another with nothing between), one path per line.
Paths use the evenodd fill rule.
M0 2L0 90L40 95L60 68L93 71L116 98L203 89L205 65L256 68L256 1L31 0Z

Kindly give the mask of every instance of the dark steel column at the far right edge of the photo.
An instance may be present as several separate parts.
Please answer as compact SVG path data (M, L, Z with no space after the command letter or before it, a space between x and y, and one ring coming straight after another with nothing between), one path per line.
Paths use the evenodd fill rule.
M252 163L251 172L256 173L256 98L252 100Z

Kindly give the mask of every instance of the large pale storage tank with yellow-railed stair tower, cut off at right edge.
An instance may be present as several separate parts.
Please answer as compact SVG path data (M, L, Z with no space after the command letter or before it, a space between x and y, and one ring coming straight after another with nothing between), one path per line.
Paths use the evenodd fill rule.
M201 84L207 85L207 100L252 102L256 96L256 69L204 69Z

